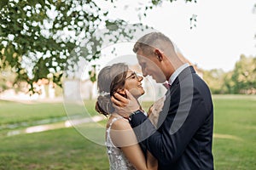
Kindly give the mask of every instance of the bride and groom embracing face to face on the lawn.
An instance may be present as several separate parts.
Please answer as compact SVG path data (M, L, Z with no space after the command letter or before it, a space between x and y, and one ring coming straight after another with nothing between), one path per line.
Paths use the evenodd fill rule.
M137 100L144 94L143 77L122 63L100 71L96 111L109 116L110 169L213 169L213 107L207 84L160 32L141 37L133 51L143 77L168 81L170 88L147 113Z

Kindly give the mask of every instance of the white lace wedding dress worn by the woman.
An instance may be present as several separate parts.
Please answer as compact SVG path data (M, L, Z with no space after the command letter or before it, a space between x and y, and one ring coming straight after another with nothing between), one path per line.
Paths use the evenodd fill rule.
M136 170L135 167L131 165L131 163L127 160L122 150L117 148L111 138L110 138L110 129L112 127L113 122L121 119L123 117L114 117L112 122L109 124L107 128L107 137L106 137L106 145L107 145L107 153L109 160L109 169L110 170Z

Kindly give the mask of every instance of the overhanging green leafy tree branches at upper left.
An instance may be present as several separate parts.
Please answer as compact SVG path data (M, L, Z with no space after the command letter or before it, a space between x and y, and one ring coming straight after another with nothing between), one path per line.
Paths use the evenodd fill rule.
M151 0L141 7L142 14L164 1ZM125 28L124 20L109 20L108 11L90 0L1 0L0 8L0 70L11 67L17 73L15 82L26 81L31 87L49 74L61 86L65 67L75 70L79 59L99 58L103 39L109 35L108 41L116 42L120 36L131 38L134 31ZM105 37L95 32L100 23L108 30Z

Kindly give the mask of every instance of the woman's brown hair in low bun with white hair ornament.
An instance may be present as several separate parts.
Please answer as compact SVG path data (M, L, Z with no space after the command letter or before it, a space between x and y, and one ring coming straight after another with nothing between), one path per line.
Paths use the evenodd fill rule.
M118 63L106 66L99 72L97 88L100 95L96 99L97 112L104 116L113 113L114 108L111 96L113 96L118 89L124 88L127 71L128 65Z

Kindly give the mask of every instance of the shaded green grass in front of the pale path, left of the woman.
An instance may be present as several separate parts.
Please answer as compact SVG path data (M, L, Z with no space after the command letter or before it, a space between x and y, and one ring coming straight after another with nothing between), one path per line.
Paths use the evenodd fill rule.
M105 147L73 127L6 137L0 145L1 170L108 169Z

